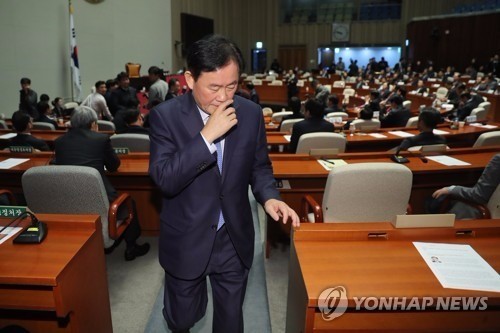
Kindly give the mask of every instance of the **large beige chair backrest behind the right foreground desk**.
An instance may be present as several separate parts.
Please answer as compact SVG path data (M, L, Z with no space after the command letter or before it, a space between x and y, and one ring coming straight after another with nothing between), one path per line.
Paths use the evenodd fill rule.
M333 168L323 195L325 222L382 222L406 213L413 175L395 163L353 163Z

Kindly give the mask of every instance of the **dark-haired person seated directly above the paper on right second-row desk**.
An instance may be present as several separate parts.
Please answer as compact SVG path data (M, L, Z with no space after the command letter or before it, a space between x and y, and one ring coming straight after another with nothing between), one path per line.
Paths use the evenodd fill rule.
M438 110L431 107L424 108L418 115L417 128L420 133L404 139L399 145L398 151L408 150L413 146L445 144L445 138L432 132L440 121L441 115Z

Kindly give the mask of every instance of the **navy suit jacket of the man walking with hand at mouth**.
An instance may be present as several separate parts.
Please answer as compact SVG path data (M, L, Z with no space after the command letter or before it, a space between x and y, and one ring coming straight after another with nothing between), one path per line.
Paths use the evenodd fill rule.
M163 193L160 263L178 278L206 268L222 209L233 245L250 268L254 251L248 185L260 203L279 198L267 153L261 108L234 96L238 124L225 136L222 175L202 135L192 93L156 106L151 117L149 174Z

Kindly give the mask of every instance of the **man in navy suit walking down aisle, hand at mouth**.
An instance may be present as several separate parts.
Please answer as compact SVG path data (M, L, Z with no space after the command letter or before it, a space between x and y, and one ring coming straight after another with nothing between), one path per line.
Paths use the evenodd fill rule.
M243 332L242 304L254 252L248 186L274 219L299 225L280 201L261 108L235 96L243 57L218 35L187 54L190 92L151 110L149 173L163 193L163 315L174 332L205 315L207 277L214 332Z

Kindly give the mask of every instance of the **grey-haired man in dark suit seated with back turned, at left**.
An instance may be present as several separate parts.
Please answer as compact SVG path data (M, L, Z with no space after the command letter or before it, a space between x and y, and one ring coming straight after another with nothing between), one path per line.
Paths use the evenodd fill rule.
M55 145L54 164L59 165L81 165L97 169L102 176L108 200L112 202L118 197L111 182L105 175L104 168L108 171L116 171L120 166L120 159L111 147L109 136L97 132L97 113L89 107L79 106L71 115L71 128L66 134L57 138ZM137 218L135 203L133 204L134 218L125 229L123 239L126 243L125 260L134 260L149 251L149 244L137 244L141 235L141 228ZM119 210L118 215L122 212ZM115 245L106 249L107 253L114 249Z

